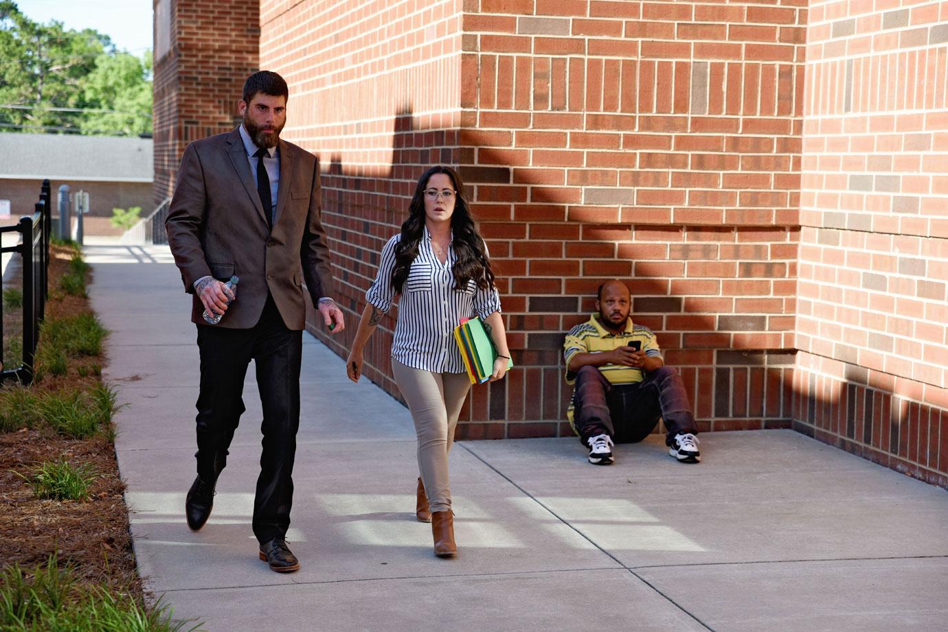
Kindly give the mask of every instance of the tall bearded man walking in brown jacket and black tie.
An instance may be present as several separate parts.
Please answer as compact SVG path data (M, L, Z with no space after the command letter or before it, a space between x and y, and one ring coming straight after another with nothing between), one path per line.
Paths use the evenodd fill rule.
M185 502L188 526L204 526L227 464L256 363L264 409L263 454L253 507L260 559L278 572L300 568L286 546L293 460L300 425L300 367L306 302L302 279L333 334L342 313L319 219L319 161L280 138L289 89L273 72L251 75L239 102L244 122L185 150L166 228L185 290L193 295L201 384L197 398L197 478ZM223 281L237 276L234 290ZM240 299L236 299L236 295ZM208 310L223 314L210 325Z

